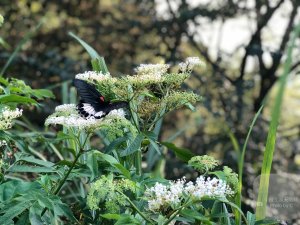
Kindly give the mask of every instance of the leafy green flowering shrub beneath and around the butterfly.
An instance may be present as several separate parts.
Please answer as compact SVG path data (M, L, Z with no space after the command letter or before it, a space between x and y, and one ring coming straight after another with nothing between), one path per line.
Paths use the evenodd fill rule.
M218 170L213 157L194 156L187 148L159 139L167 113L182 107L194 110L201 100L181 89L191 77L193 62L200 62L197 57L181 63L177 73L169 73L166 64L143 64L135 74L116 78L95 49L70 35L90 54L94 69L76 78L95 85L107 101L126 101L126 115L113 110L101 120L85 119L75 104L64 104L46 120L46 125L62 125L57 134L34 128L28 128L29 134L22 134L22 128L9 132L12 120L20 116L13 110L20 104L38 105L53 94L0 77L0 118L6 124L0 131L0 224L274 223L258 221L250 212L245 216L235 204L241 180L231 168ZM62 90L67 103L72 92L69 95L67 83ZM27 125L23 123L19 126ZM48 154L35 150L36 143ZM202 175L170 181L157 178L148 165L146 173L144 164L166 157L166 148Z

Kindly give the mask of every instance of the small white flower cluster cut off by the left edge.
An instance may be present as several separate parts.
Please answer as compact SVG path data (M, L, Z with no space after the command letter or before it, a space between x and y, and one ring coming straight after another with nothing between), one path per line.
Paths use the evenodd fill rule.
M7 130L12 127L13 119L22 116L22 109L11 110L8 107L4 107L0 110L0 130Z

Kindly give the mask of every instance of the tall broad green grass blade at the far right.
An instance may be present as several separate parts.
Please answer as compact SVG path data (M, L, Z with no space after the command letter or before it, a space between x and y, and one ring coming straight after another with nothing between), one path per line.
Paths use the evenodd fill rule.
M272 168L272 161L273 161L273 155L275 150L276 132L277 132L277 127L280 119L282 98L283 98L283 93L286 86L287 78L289 76L291 66L292 66L292 53L295 46L295 41L299 35L300 35L300 24L295 27L295 29L291 34L291 38L287 50L287 59L284 63L284 71L278 81L279 89L272 109L271 123L269 127L267 143L264 151L264 159L263 159L263 164L261 169L258 198L256 202L256 220L262 220L266 217L269 179L270 179L270 172Z

